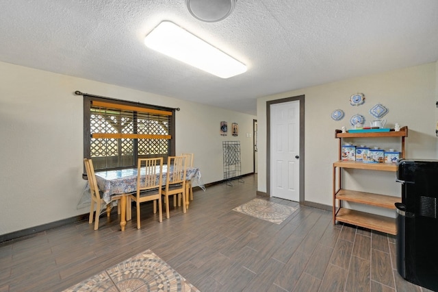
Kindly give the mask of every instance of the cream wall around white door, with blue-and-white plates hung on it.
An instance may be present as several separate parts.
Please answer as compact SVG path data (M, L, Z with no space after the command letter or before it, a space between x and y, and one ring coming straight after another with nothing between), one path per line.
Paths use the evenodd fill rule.
M302 88L287 93L257 99L259 129L258 191L266 190L266 101L305 95L305 201L331 206L332 165L337 160L338 141L335 129L343 125L350 128L350 117L362 114L367 123L374 118L369 113L375 104L389 108L385 115L387 126L394 123L409 127L406 138L407 158L438 159L435 136L437 100L437 64L424 64L396 71L368 75L331 84ZM351 106L350 96L365 95L365 104ZM340 108L345 117L333 121L331 112ZM400 139L361 141L368 146L400 149ZM354 141L353 141L354 142ZM378 145L377 145L378 144ZM370 191L400 195L400 184L394 173L348 171L346 187L357 191Z

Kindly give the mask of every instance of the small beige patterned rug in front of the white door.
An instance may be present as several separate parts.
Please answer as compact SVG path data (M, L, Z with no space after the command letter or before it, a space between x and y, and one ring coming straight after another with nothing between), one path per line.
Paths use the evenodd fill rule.
M252 199L233 210L259 219L281 224L296 208L270 202L266 199Z

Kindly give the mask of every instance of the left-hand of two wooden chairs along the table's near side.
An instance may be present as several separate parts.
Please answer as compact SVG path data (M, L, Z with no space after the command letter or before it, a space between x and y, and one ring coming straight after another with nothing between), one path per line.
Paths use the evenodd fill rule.
M143 173L145 174L143 176ZM157 213L158 221L163 221L162 183L163 158L138 158L137 192L129 197L136 201L137 229L140 229L140 203L153 201L153 213Z

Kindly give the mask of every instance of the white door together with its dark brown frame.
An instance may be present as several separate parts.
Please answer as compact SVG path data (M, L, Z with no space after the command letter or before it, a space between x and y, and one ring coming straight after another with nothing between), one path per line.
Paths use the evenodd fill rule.
M304 201L304 95L266 103L267 191Z

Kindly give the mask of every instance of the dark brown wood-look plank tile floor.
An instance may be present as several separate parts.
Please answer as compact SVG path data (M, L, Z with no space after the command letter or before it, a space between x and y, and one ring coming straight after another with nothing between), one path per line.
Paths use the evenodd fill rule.
M143 204L141 230L132 220L121 232L113 210L97 231L82 221L0 243L0 292L62 291L144 250L200 291L428 291L398 275L394 236L278 198L264 199L297 208L280 224L233 211L256 191L249 175L196 191L187 213L171 207L162 223Z

